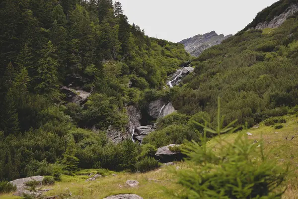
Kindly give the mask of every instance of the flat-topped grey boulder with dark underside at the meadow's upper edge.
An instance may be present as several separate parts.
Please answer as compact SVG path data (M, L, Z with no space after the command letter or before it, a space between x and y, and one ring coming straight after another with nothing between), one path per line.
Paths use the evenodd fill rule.
M164 147L157 149L155 156L159 159L161 163L181 161L184 158L184 155L181 152L170 151L169 146L179 146L177 144L170 144Z

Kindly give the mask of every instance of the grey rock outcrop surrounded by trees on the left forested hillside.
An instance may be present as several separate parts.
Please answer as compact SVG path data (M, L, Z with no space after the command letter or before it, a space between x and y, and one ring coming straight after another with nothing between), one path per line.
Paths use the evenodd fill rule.
M84 104L88 97L91 96L91 93L85 92L83 90L74 90L68 87L62 87L60 90L66 95L66 101L73 102L78 105Z

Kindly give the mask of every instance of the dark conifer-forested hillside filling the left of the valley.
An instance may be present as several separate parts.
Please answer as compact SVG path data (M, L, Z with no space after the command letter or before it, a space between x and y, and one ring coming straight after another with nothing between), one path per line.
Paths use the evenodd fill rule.
M166 95L183 45L149 38L112 0L1 0L0 19L0 180L135 170L147 154L105 130L128 122L125 106ZM92 95L66 103L62 86Z

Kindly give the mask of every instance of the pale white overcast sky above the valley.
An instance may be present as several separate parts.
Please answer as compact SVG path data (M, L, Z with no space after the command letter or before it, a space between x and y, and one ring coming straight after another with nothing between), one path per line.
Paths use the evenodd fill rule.
M173 42L215 30L235 34L278 0L118 0L129 22Z

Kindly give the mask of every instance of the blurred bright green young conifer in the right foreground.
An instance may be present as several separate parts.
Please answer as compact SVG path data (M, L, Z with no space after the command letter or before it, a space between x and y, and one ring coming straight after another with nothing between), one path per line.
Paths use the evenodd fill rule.
M277 166L277 163L267 159L264 154L263 142L260 147L253 144L247 136L238 137L227 143L222 132L233 133L233 123L223 127L223 121L218 111L218 126L205 126L204 136L200 146L191 143L185 154L189 157L189 169L172 171L184 191L180 199L281 199L284 191L277 188L286 180L288 170ZM220 150L210 150L207 147L207 132L218 135L217 144ZM174 193L173 193L174 194Z

